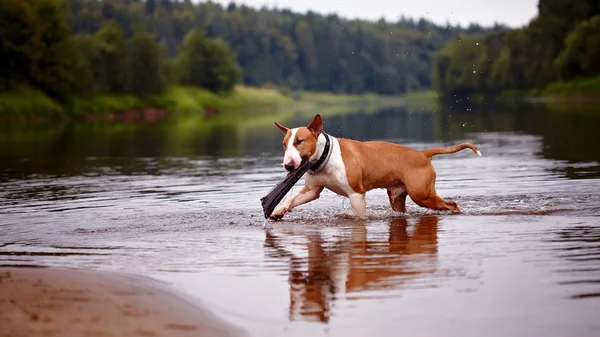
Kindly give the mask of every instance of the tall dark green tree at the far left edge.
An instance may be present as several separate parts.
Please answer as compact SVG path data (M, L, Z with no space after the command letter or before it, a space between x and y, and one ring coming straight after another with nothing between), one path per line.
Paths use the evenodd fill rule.
M37 87L52 98L73 90L77 60L62 0L0 2L0 88Z

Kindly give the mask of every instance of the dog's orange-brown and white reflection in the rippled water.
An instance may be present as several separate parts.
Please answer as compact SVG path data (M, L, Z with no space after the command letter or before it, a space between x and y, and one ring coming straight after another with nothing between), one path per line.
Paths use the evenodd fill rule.
M414 226L413 226L414 225ZM355 220L334 242L319 233L306 236L308 256L295 256L283 244L284 235L267 232L267 255L289 260L290 320L328 322L336 297L365 290L399 289L434 271L437 258L436 216L390 220L387 235L367 235Z

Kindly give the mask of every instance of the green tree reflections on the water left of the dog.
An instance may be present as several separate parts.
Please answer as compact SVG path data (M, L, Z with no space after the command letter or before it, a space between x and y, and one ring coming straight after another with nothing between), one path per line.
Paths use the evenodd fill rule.
M158 174L181 164L161 158L240 155L241 139L235 123L208 127L203 123L203 120L152 125L70 123L44 137L32 132L26 138L3 139L0 162L2 168L18 176L72 176L98 170L106 174L104 169L128 175ZM154 162L152 165L148 165L149 158Z

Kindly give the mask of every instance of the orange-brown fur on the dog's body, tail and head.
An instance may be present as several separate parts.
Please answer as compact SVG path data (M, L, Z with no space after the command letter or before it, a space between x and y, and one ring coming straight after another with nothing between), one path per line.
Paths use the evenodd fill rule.
M291 131L277 122L275 124L286 135L284 137L285 147ZM316 115L308 127L298 129L294 144L297 144L298 139L303 140L302 144L296 146L302 158L305 156L308 158L315 153L317 137L322 132L322 128L321 117ZM338 138L338 140L348 184L352 190L364 195L373 189L387 189L390 206L398 212L406 212L407 196L410 196L421 207L460 212L454 201L444 200L437 195L435 191L436 173L431 165L431 157L438 154L455 153L466 148L479 154L477 147L471 143L421 151L383 141L360 142L343 138ZM317 192L320 193L320 190ZM318 198L318 193L316 198ZM283 214L276 214L273 217L280 218L281 216Z

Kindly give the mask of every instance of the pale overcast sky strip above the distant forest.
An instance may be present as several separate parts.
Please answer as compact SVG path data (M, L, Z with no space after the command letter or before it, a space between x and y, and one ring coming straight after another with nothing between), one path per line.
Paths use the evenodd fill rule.
M213 0L229 4L231 0ZM471 22L483 26L503 23L510 27L523 26L537 13L538 0L235 0L259 8L288 8L305 13L312 10L321 14L337 13L345 18L377 20L384 17L396 21L401 15L427 18L435 23L468 25Z

